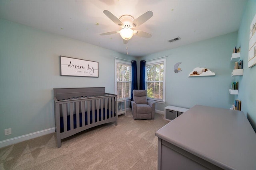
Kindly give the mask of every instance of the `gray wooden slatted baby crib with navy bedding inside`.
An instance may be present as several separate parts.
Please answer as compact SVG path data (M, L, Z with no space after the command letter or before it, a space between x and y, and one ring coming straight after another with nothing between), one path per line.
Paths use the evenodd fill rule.
M61 139L76 133L116 122L117 95L105 93L105 87L54 88L55 130L57 147Z

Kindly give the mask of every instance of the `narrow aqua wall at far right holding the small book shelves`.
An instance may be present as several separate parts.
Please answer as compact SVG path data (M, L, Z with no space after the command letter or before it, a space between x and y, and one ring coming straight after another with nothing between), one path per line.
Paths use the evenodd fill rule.
M238 31L237 47L241 46L241 59L244 61L244 75L237 77L239 81L238 99L242 101L242 110L248 116L256 131L256 66L248 68L248 49L250 24L256 15L256 1L248 1Z

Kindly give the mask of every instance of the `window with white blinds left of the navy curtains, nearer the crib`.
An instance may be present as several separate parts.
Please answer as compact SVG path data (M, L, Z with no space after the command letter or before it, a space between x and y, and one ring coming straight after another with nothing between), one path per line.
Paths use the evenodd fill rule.
M130 99L132 92L132 64L115 60L115 90L118 99Z

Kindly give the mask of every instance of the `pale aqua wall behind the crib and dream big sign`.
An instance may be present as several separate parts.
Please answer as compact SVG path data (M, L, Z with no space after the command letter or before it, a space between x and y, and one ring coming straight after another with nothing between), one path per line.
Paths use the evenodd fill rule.
M0 141L54 127L53 88L114 93L114 57L134 59L6 20L0 28ZM60 76L60 55L98 61L99 78Z

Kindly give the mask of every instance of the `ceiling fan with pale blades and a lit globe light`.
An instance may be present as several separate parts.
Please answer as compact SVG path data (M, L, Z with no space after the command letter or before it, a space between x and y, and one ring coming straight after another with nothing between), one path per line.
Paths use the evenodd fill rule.
M136 20L130 15L123 15L119 19L116 18L111 12L108 10L104 10L103 13L118 26L122 27L120 31L111 31L107 33L101 33L100 35L110 35L119 33L121 37L124 39L124 44L128 43L128 40L132 38L133 35L137 35L140 37L150 38L152 35L150 33L146 33L140 30L133 30L135 27L138 27L142 23L146 22L153 16L152 11L148 11L141 16L139 16Z

